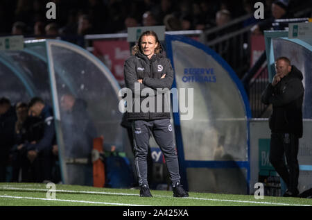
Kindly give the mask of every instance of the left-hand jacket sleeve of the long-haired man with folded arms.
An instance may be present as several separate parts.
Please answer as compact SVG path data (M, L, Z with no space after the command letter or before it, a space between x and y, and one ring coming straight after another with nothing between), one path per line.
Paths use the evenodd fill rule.
M132 59L125 60L123 67L123 74L125 78L125 87L129 88L132 94L143 96L141 91L147 88L143 83L137 81L137 73L135 71L135 62ZM135 90L135 83L139 83L139 90Z

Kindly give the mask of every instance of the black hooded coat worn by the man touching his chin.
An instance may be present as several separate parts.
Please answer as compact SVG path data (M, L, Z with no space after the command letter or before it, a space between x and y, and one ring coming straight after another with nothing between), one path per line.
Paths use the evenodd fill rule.
M269 119L272 133L293 133L298 138L302 137L302 78L301 71L292 66L287 76L274 87L270 83L262 93L261 101L273 107Z

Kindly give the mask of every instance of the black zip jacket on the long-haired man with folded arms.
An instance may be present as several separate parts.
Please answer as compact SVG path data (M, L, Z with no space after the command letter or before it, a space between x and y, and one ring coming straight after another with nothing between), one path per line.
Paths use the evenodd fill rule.
M132 91L132 112L128 111L128 120L153 120L153 119L170 119L170 94L169 90L173 83L173 69L171 62L168 58L165 58L162 53L154 54L150 59L144 54L138 52L135 56L131 56L125 60L124 65L125 87ZM161 78L164 74L166 76ZM139 83L138 80L142 79L143 83ZM139 83L139 90L135 91L135 83ZM150 93L148 95L142 94L142 90L148 88ZM157 88L162 89L163 92L157 92ZM164 90L167 92L164 92ZM146 91L146 90L145 90ZM140 106L144 102L144 106L150 108L148 112L139 109L139 112L135 112L135 95L139 95ZM162 96L162 108L157 106L157 96ZM160 97L159 97L160 98ZM145 105L148 100L154 99L155 105ZM149 102L150 103L150 102ZM129 105L130 103L127 103ZM153 108L152 108L153 106ZM129 107L129 106L128 106Z

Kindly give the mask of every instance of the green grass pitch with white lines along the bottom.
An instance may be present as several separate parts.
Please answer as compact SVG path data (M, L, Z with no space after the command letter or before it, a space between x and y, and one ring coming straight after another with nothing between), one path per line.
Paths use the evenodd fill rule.
M50 190L50 191L49 191ZM142 198L138 189L109 189L78 185L0 183L0 206L312 206L311 198L283 198L189 192L189 198L173 198L171 191L151 190ZM49 192L48 192L49 191Z

